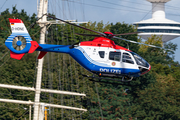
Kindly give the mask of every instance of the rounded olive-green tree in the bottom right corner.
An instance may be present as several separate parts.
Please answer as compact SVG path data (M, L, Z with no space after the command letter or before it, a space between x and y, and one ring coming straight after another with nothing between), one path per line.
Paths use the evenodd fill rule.
M141 120L177 120L179 116L179 81L171 75L157 75L157 82L137 91L134 116Z

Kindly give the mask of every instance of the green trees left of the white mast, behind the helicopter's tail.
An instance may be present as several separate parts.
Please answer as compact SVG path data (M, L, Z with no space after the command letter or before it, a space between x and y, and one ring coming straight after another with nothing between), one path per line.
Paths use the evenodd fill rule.
M10 13L8 9L1 13L0 16L0 83L1 84L13 84L19 86L33 87L34 83L34 70L36 53L25 55L21 61L17 61L10 58L9 50L4 45L5 40L11 34L10 24L8 18L20 18L24 24L28 26L36 22L36 15L28 16L27 13L22 10L18 12L16 6L13 7ZM33 40L37 40L39 35L36 34L39 26L35 25L29 30L29 33ZM8 54L7 54L8 53ZM4 89L0 88L0 98L5 99L17 99L17 100L32 100L34 101L34 92ZM24 108L28 108L27 105L18 105L12 103L0 103L0 119L12 120L19 119L24 113L28 111ZM28 118L28 114L23 117Z

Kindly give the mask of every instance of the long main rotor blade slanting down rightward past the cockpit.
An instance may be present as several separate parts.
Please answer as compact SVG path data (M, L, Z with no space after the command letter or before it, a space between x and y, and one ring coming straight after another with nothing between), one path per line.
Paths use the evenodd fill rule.
M116 38L116 39L119 39L119 40L128 41L128 42L131 42L131 43L146 45L146 46L149 46L149 47L154 47L154 48L160 48L160 49L165 49L165 50L173 51L173 50L171 50L171 49L166 49L166 48L159 47L159 46L155 46L155 45L144 44L144 43L140 43L140 42L136 42L136 41L132 41L132 40L127 40L127 39L119 38L119 37L115 37L115 36L114 36L113 38Z

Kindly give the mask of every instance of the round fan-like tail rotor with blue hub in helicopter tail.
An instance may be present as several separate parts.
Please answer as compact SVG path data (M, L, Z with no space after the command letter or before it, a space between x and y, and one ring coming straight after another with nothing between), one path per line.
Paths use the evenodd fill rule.
M26 47L26 39L23 36L16 36L12 42L15 50L23 50Z

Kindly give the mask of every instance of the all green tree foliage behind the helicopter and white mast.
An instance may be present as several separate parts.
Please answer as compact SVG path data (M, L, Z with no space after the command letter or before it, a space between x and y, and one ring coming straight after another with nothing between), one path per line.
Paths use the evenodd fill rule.
M28 16L13 7L12 12L5 10L0 16L0 83L35 87L37 53L26 54L21 61L11 59L4 42L11 34L8 18L20 18L27 26L33 40L38 41L40 27L36 14ZM48 20L52 20L48 18ZM104 24L88 22L80 24L89 29L114 34L135 32L133 25L126 23ZM67 24L47 26L46 43L73 44L92 40L93 37L79 36L75 33L94 34ZM141 41L136 34L120 36L129 40ZM82 77L91 74L76 63L69 55L48 53L45 56L42 88L72 92L84 92L86 97L41 93L41 102L82 107L88 112L81 113L66 109L49 108L49 119L104 119L104 120L152 120L180 119L179 80L180 65L174 61L174 52L163 49L139 46L134 43L114 40L116 44L129 48L151 64L151 71L125 85L94 83ZM160 37L152 36L146 44L162 47ZM168 43L167 49L176 50L177 45ZM34 92L0 88L0 98L34 101ZM0 103L0 119L28 118L27 105Z

